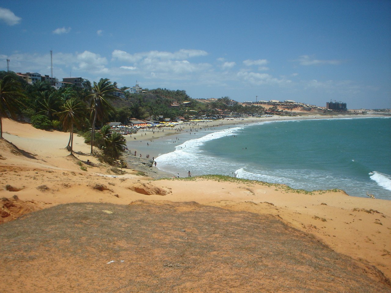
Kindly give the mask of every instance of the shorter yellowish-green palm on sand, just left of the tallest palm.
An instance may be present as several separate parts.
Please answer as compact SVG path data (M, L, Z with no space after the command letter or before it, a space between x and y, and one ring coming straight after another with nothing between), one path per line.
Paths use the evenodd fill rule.
M70 150L71 155L73 154L73 134L74 134L74 124L79 125L83 116L86 113L86 107L81 100L77 98L71 98L66 100L64 105L61 106L63 111L56 113L60 121L63 123L64 130L70 130L69 141L67 149Z

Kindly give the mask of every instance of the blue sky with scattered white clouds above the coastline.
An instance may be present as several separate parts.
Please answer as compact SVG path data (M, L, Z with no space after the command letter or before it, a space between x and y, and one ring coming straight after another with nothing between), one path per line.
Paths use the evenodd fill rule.
M391 108L391 1L4 1L0 70Z

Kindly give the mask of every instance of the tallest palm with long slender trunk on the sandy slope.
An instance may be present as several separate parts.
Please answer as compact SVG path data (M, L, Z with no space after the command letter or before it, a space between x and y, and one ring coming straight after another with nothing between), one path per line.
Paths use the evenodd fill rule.
M115 98L115 96L112 95L114 90L115 87L108 79L100 79L98 83L94 81L92 93L88 96L91 99L91 115L93 114L91 126L91 154L95 137L95 123L97 120L103 120L103 118L107 116L108 109L113 109L108 103L108 98Z

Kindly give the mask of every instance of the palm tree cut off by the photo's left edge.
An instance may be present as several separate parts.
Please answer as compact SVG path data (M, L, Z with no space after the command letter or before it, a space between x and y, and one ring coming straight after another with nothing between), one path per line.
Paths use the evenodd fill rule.
M20 83L10 75L6 75L0 80L0 138L3 138L2 117L8 117L10 114L12 118L16 119L16 112L19 110L16 104L22 104L18 98L24 96Z

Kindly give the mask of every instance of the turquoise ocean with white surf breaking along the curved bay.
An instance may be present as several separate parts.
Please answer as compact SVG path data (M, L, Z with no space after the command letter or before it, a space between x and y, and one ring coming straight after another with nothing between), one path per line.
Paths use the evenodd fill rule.
M391 200L389 117L265 121L160 144L167 153L156 158L158 167L180 177L221 174Z

